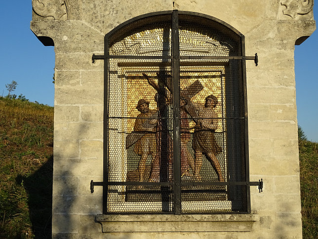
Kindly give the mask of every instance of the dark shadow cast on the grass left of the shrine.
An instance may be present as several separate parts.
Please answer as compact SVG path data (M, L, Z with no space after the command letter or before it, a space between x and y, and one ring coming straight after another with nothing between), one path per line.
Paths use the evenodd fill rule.
M52 238L52 182L53 155L32 175L18 175L18 184L23 184L28 193L28 204L35 238Z

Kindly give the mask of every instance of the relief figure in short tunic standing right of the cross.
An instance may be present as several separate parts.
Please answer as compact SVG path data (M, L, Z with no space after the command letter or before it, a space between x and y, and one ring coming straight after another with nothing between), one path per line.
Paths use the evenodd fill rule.
M215 96L210 95L205 98L204 109L199 112L199 119L195 127L193 138L193 149L195 150L195 172L194 176L197 181L201 181L200 171L202 167L202 154L210 161L214 168L219 182L224 182L221 172L221 166L216 155L222 152L215 140L214 132L218 127L217 114L214 111L218 100Z

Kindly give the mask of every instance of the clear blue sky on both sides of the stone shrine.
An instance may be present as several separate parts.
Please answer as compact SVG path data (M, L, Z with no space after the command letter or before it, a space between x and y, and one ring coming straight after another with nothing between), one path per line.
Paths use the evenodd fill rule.
M16 81L12 94L53 106L54 47L40 43L30 30L31 19L32 0L1 2L0 95L8 94L5 84ZM318 31L295 46L295 76L298 124L308 140L318 142Z

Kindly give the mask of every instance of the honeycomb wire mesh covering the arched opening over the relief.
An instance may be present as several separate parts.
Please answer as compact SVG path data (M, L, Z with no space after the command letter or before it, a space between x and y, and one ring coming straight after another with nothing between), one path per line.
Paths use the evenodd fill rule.
M172 39L171 22L146 17L108 39L107 213L175 213L177 194L181 213L246 211L246 186L229 184L245 180L241 62L213 59L239 55L239 37L180 15ZM178 72L172 41L198 56Z

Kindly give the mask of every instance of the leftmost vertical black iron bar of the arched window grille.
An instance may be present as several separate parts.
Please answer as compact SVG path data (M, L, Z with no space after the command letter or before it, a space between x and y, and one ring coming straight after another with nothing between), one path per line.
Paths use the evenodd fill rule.
M103 213L107 214L108 201L108 68L109 68L109 36L105 35L104 39L104 115L103 115Z

